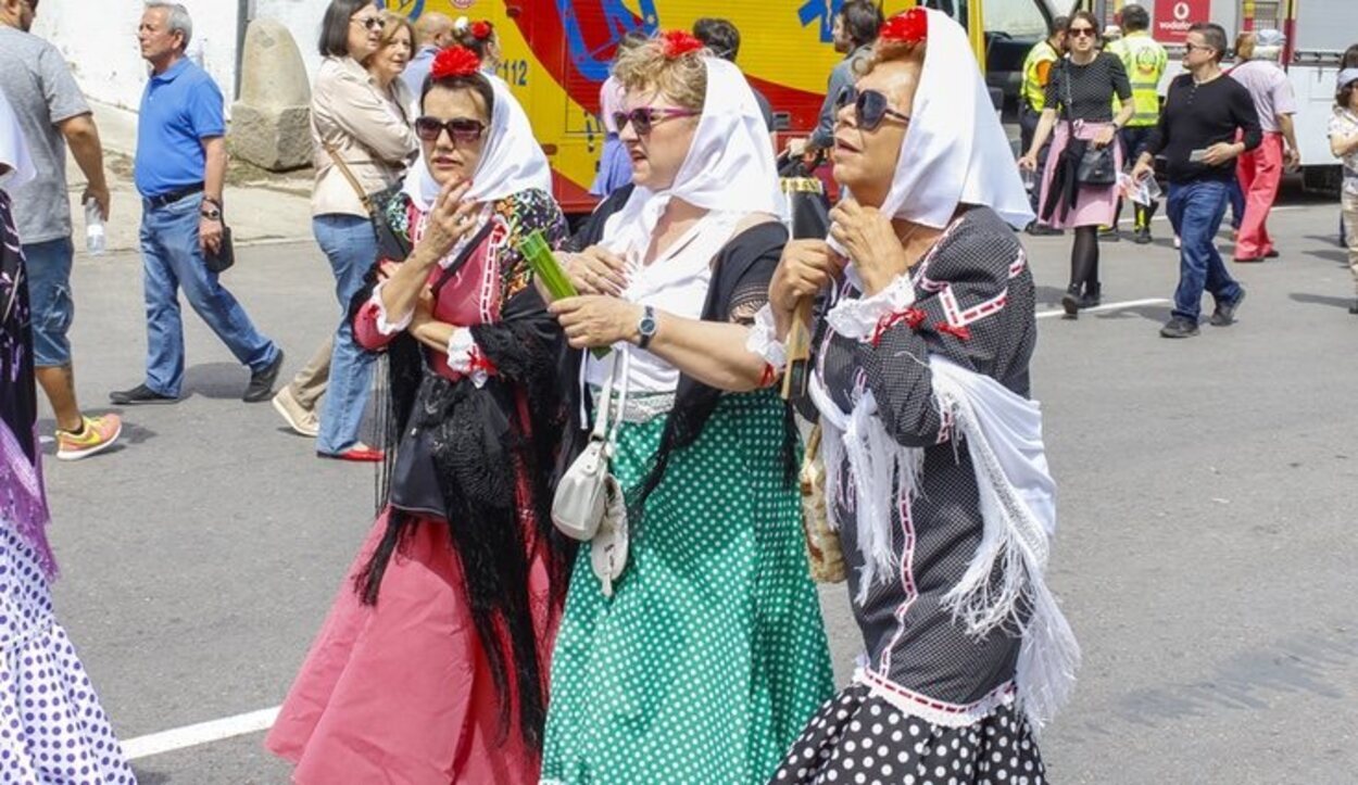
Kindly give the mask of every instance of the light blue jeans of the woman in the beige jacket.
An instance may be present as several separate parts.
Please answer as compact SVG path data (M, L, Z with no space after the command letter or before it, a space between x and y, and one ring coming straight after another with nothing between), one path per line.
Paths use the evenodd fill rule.
M368 407L372 364L376 354L353 340L349 323L349 300L363 288L363 278L378 261L378 238L368 219L346 215L323 215L311 219L316 244L330 259L335 274L335 297L340 299L340 329L330 354L330 383L320 407L320 433L316 451L337 455L359 441L363 412Z

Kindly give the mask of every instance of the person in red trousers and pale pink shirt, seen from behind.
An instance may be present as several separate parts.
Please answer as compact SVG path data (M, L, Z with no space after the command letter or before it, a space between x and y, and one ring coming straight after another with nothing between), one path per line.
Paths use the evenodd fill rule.
M1237 262L1262 262L1278 255L1272 238L1268 236L1268 211L1278 198L1283 168L1301 166L1297 133L1291 122L1291 115L1297 113L1297 98L1291 92L1287 73L1278 65L1285 41L1283 34L1277 30L1241 35L1236 46L1236 57L1241 62L1230 69L1230 77L1249 91L1263 130L1259 148L1241 155L1236 166L1244 196L1244 209L1237 215Z

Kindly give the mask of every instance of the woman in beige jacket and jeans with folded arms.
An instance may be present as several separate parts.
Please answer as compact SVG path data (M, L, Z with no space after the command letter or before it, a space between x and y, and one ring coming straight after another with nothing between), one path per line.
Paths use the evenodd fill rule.
M331 0L326 10L320 30L325 60L311 96L311 136L316 145L311 220L335 276L341 318L333 346L322 346L273 401L293 431L316 436L316 455L345 460L382 459L380 451L359 440L373 357L354 344L344 318L378 258L376 236L359 190L375 193L397 185L418 145L406 117L410 101L405 86L399 79L383 79L380 68L369 73L364 65L383 49L384 27L383 12L367 0ZM401 27L391 26L392 39ZM326 395L318 426L322 392Z

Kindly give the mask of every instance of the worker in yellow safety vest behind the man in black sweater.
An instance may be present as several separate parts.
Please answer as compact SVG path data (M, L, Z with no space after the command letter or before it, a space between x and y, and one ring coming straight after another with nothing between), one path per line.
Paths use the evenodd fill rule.
M1150 133L1160 122L1160 77L1165 73L1169 57L1165 48L1150 37L1150 15L1141 5L1128 4L1122 10L1123 37L1108 45L1112 52L1122 58L1123 68L1127 69L1127 79L1131 80L1131 101L1137 111L1127 125L1119 132L1122 137L1122 159L1135 163L1150 141ZM1118 99L1114 98L1114 102ZM1135 227L1133 240L1141 244L1150 242L1150 217L1156 215L1158 202L1149 205L1133 202L1135 208ZM1118 213L1114 225L1100 239L1118 239L1118 219L1122 216L1122 201L1118 202Z

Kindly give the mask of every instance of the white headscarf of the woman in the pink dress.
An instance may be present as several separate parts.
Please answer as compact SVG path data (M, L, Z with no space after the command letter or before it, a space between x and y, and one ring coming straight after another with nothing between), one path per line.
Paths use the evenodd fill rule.
M490 110L486 147L481 151L481 162L471 175L467 198L490 202L528 189L551 193L551 166L532 134L528 114L502 79L483 76L490 80L496 103ZM429 212L440 187L421 152L420 160L406 174L406 196L420 212Z

